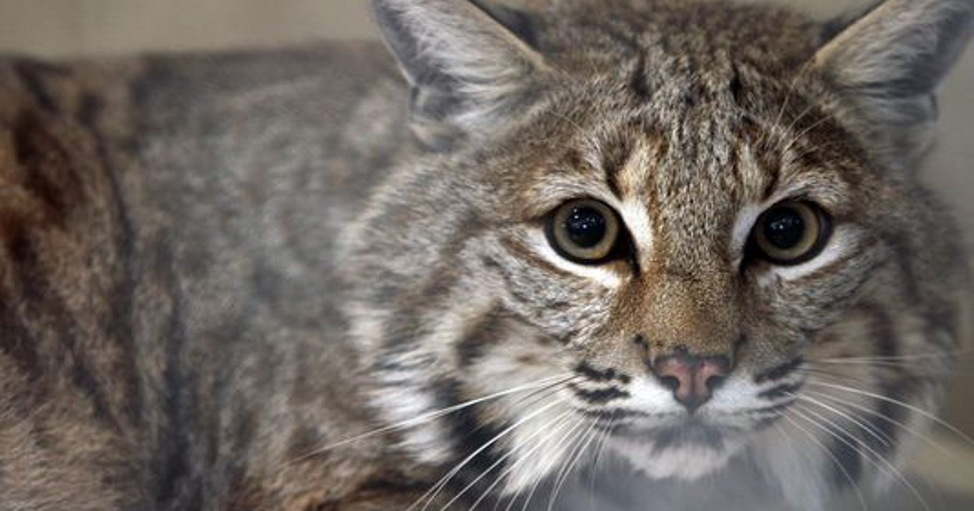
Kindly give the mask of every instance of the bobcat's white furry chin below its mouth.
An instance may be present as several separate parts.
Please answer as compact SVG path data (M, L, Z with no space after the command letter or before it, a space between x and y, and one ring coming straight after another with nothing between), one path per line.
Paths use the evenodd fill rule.
M720 471L743 450L742 435L715 428L680 428L614 435L607 444L651 479L694 481Z

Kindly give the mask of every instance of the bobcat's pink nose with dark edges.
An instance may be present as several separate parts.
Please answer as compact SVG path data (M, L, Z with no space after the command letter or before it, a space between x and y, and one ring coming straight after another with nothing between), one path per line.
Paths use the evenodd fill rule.
M731 360L726 356L678 353L656 359L653 372L673 390L673 397L693 413L731 373Z

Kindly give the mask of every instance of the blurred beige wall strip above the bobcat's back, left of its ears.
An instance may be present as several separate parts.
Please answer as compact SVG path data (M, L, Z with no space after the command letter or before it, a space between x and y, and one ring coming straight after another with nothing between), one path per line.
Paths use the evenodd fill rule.
M92 55L375 37L365 0L0 0L0 50Z

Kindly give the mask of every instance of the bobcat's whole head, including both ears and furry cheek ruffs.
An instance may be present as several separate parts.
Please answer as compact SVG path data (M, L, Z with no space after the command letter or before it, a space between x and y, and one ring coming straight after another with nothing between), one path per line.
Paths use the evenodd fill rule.
M909 174L931 112L929 81L907 93L916 55L854 72L881 56L856 48L873 15L830 44L750 8L609 2L599 25L562 6L525 35L528 15L426 4L378 13L439 153L404 164L348 253L406 446L508 493L606 451L655 478L737 456L802 505L898 456L890 424L918 417L890 403L928 404L946 362L843 361L941 362L959 335L953 228Z

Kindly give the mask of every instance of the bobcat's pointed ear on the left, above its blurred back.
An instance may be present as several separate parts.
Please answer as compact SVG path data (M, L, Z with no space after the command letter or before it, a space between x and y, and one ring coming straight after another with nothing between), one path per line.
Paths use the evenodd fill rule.
M431 148L496 127L539 93L547 69L527 16L482 0L372 4L412 87L411 126Z

